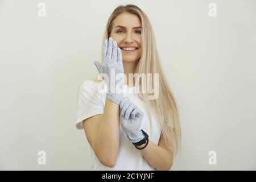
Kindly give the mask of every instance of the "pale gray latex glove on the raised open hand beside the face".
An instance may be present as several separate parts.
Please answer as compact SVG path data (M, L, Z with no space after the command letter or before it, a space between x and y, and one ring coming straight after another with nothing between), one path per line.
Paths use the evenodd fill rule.
M117 47L117 42L109 38L105 39L103 46L103 65L94 61L98 72L106 82L107 93L106 99L120 105L123 100L123 60L122 52Z

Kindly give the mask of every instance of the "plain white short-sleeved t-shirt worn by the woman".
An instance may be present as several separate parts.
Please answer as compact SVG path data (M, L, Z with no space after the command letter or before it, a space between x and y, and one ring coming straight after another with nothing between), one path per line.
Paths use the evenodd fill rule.
M104 113L104 106L106 100L106 93L98 92L101 82L93 82L86 80L82 82L79 93L78 93L78 104L77 104L77 122L76 128L83 129L82 121L84 119L92 117L96 114ZM151 125L148 117L145 102L139 98L138 94L135 93L135 87L129 87L123 85L123 97L129 97L130 101L139 107L144 113L144 117L141 124L141 129L148 134L150 141L158 145L160 139L160 126L156 121L154 115L151 114ZM131 93L133 92L133 93ZM94 98L94 99L93 99ZM150 127L151 126L151 127ZM122 126L119 126L119 152L117 161L113 168L106 167L100 163L97 156L92 151L92 170L155 170L142 156L141 151L136 149L133 143L127 138Z

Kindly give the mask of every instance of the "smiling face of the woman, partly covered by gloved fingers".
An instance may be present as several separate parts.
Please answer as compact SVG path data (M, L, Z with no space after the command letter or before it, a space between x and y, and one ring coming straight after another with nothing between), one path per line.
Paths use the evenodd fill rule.
M110 36L122 50L124 62L138 61L141 58L141 20L137 15L121 13L113 20ZM135 48L126 51L125 48Z

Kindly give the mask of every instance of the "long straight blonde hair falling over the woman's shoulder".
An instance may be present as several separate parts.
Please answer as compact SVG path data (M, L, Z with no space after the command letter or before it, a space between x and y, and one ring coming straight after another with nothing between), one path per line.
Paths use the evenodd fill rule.
M113 20L121 13L132 13L141 19L142 32L141 32L141 47L142 55L138 61L135 73L159 73L159 97L155 100L148 100L148 93L139 92L139 97L146 102L148 109L151 109L155 114L156 121L158 121L161 128L161 136L163 137L164 147L170 148L176 156L181 148L181 129L179 122L179 111L177 109L176 101L168 86L168 82L164 77L163 69L160 66L159 54L156 49L155 36L151 27L150 20L147 15L135 5L118 6L110 15L108 23L105 27L104 37L109 39L112 28ZM102 57L101 57L102 60ZM102 63L102 62L101 62ZM152 82L154 82L152 77Z

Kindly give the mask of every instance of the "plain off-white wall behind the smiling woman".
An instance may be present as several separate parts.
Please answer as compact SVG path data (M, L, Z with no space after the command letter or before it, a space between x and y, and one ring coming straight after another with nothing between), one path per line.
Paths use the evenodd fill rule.
M75 128L77 92L97 73L110 14L129 3L151 21L180 110L182 152L171 169L256 169L256 1L249 0L0 0L0 169L90 170L90 146Z

